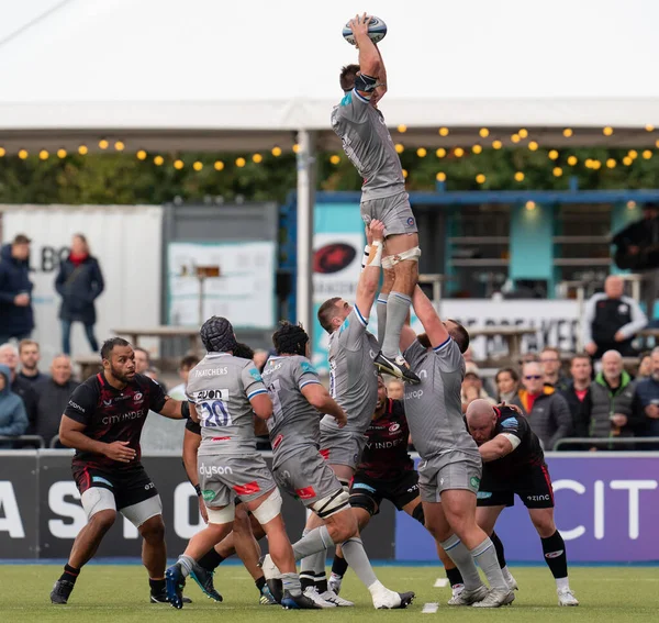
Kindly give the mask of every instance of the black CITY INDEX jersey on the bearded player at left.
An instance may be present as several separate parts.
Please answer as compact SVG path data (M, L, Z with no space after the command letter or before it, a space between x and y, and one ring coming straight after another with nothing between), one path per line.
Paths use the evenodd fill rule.
M76 450L74 467L93 466L131 470L139 466L139 435L149 409L159 412L167 400L163 388L144 375L135 375L124 389L113 388L103 372L89 377L71 393L64 414L85 424L85 434L111 444L130 442L137 456L131 463L112 460L104 455Z

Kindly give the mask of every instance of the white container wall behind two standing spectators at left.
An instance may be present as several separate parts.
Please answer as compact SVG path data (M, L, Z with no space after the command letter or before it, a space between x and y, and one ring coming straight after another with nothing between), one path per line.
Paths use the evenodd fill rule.
M62 351L60 298L55 278L59 257L66 257L76 233L87 237L105 281L96 301L99 344L114 335L112 329L160 324L160 207L0 204L0 212L3 244L20 233L32 238L30 266L36 324L32 335L42 347L43 371ZM145 341L144 346L153 352L156 343ZM74 357L91 352L80 323L74 324L71 349Z

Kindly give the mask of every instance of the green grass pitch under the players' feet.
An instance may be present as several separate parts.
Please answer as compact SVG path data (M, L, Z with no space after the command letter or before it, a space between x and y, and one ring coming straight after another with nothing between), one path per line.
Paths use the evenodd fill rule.
M284 611L258 604L258 593L247 571L237 565L221 566L215 586L223 603L206 599L189 580L186 594L193 600L182 610L148 602L146 572L137 565L89 565L85 568L67 605L53 605L48 594L62 568L55 565L0 566L0 621L2 623L146 623L158 621L226 620L231 623L283 623L284 621L425 621L450 618L456 622L505 621L505 623L559 623L561 621L627 622L659 621L659 569L637 567L576 567L570 583L581 605L559 608L554 579L544 567L513 567L520 590L515 602L499 610L446 605L450 589L434 588L444 578L440 567L378 567L379 579L395 590L414 590L407 610L376 611L370 596L348 571L342 597L355 608L330 611ZM438 603L435 613L423 613L426 603Z

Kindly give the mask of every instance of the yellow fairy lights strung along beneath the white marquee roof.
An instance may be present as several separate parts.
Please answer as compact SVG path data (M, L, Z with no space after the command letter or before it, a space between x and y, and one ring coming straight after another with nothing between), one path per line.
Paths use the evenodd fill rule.
M394 138L395 151L398 154L403 154L406 152L403 140L404 140L405 133L407 132L407 127L405 125L399 125L395 129L395 131L398 132L398 134L393 133L395 136L395 138ZM645 126L645 131L648 133L651 133L651 132L655 132L655 127L652 125L648 124ZM447 138L450 135L450 130L448 127L439 127L437 133L443 138ZM602 129L602 134L606 137L613 136L614 129L612 126L607 125ZM533 140L529 135L529 131L526 130L525 127L521 127L517 132L514 132L513 134L511 134L510 135L510 144L507 144L507 145L504 145L504 142L501 138L490 140L491 132L488 127L480 127L478 131L478 135L479 135L480 141L469 147L456 145L453 147L438 147L437 149L434 151L434 155L435 155L436 159L439 162L438 170L435 176L437 181L445 182L448 179L447 170L443 170L443 168L448 168L448 167L443 167L442 163L448 162L449 159L455 162L455 160L458 160L460 158L468 157L471 155L478 156L479 154L482 154L483 151L485 151L488 148L493 149L493 151L499 151L499 149L504 148L504 146L516 147L516 148L526 147L529 152L537 152L540 148L540 144L538 143L538 141ZM573 137L574 130L572 130L571 127L565 127L562 130L562 136L565 138ZM507 141L506 141L506 143L507 143ZM602 145L602 146L604 147L604 145ZM126 151L126 144L120 140L110 141L108 138L100 138L98 142L98 147L99 147L99 149L101 149L101 152L105 152L105 153L110 153L110 152L123 153ZM659 149L659 138L656 140L655 147L657 147ZM293 154L297 154L299 152L299 148L300 148L300 146L298 144L293 144L293 145L290 145L289 147L284 147L284 148L280 147L279 145L273 145L269 149L269 154L272 157L278 158L278 157L282 156L286 152L292 152ZM90 148L86 144L79 145L77 147L77 149L74 152L74 154L77 154L80 156L86 156L89 153L90 153ZM7 155L10 155L10 154L8 153L8 151L4 147L2 147L0 145L0 158L4 157ZM18 149L18 152L15 152L15 155L22 160L30 158L29 151L24 149L24 148ZM42 149L38 149L38 152L36 152L36 155L38 156L40 160L47 160L51 157L57 157L59 159L64 159L69 156L69 152L67 152L67 149L65 149L64 147L58 148L54 153L51 153L47 149L42 148ZM432 151L428 151L426 147L416 147L415 155L420 159L426 158L432 155ZM585 159L583 159L582 165L587 169L591 169L591 170L599 170L602 168L614 169L617 166L630 167L635 163L635 160L637 160L638 158L649 160L650 158L652 158L652 156L654 156L652 149L646 148L640 152L637 149L628 149L627 154L624 157L622 157L619 160L612 158L612 157L606 158L605 160L600 160L597 158L585 158ZM235 166L238 169L243 168L249 162L252 162L256 165L259 165L264 162L266 155L264 155L260 152L256 152L256 153L248 154L248 155L236 156L235 159L227 160L227 162L222 160L222 159L214 159L213 162L202 162L200 159L194 159L193 162L190 162L189 159L186 160L183 156L152 154L152 153L148 153L146 149L139 148L135 152L135 157L141 162L150 163L156 167L172 166L177 170L191 168L194 171L201 171L206 167L212 167L215 171L223 171L230 166ZM326 157L328 158L330 164L333 166L339 166L343 162L345 162L345 158L346 158L346 156L343 153L327 154ZM576 167L580 164L579 157L576 156L574 154L570 154L567 157L565 157L565 153L563 153L562 158L561 158L561 153L556 148L549 149L547 152L547 157L555 163L555 166L551 168L551 174L554 175L554 177L561 177L566 173L569 171L569 169L566 170L566 167ZM561 158L562 164L558 163L559 158ZM404 177L407 177L407 175L409 175L407 170L403 169L403 175L404 175ZM523 170L517 170L513 174L513 178L517 182L523 182L524 179L526 178L526 174ZM488 177L485 175L485 171L477 173L474 175L474 180L479 185L485 183L487 179L488 179Z

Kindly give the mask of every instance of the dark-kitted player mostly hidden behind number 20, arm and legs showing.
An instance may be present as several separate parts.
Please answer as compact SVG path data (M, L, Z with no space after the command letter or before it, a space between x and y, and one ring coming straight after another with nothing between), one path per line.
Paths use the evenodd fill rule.
M234 351L234 357L243 359L253 359L254 351L247 344L237 343ZM186 435L183 437L183 466L188 479L199 497L199 511L205 523L209 522L201 487L199 486L199 474L197 471L197 457L199 445L201 444L201 425L193 420L186 422ZM236 499L236 516L233 523L231 534L225 536L213 549L205 554L192 568L190 577L199 585L199 588L206 597L215 601L222 601L222 596L214 587L213 574L220 564L237 554L249 575L254 578L254 583L259 592L259 603L261 605L273 605L277 603L270 589L266 585L264 572L258 564L260 558L260 546L258 539L266 535L261 525L254 519L245 505Z

